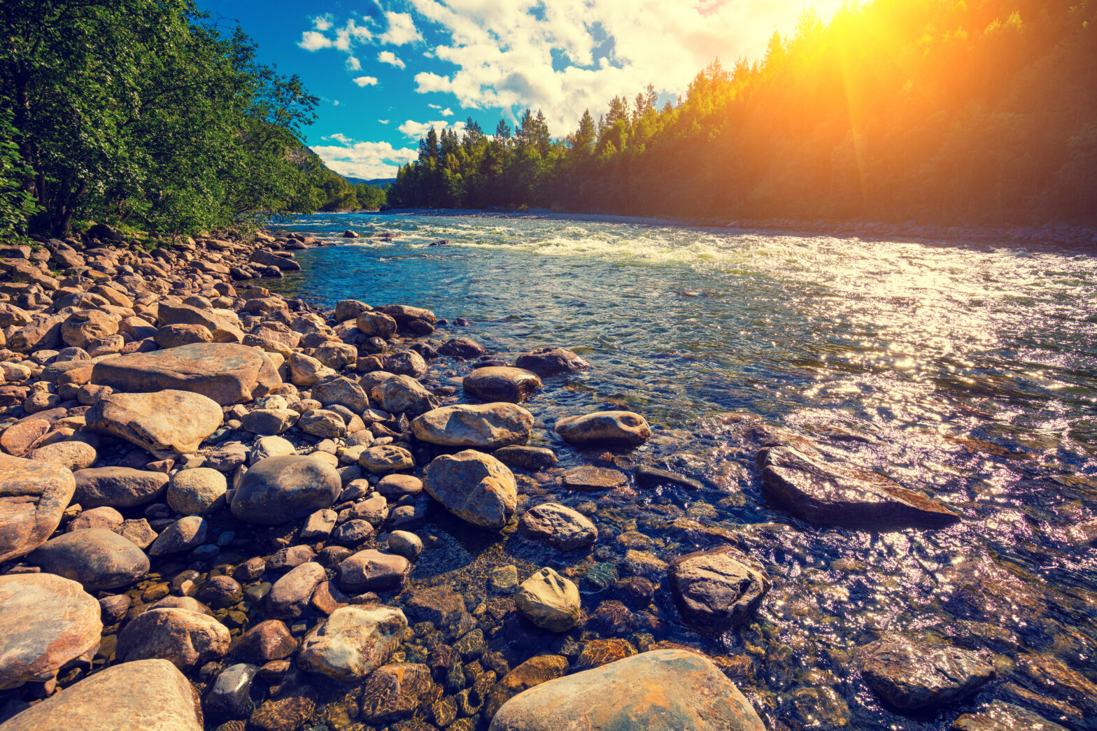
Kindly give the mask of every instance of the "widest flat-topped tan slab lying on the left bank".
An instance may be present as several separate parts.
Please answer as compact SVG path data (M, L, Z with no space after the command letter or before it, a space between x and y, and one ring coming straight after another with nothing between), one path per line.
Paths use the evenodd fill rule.
M264 396L282 379L259 348L195 342L108 358L95 363L91 382L118 391L191 391L225 406Z

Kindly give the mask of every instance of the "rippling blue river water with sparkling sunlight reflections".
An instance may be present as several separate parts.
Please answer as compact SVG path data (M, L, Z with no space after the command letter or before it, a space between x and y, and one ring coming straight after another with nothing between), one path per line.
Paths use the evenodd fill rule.
M595 631L704 649L773 728L947 729L995 698L1094 728L1072 716L1097 704L1082 699L1084 684L1067 691L1019 668L1058 661L1097 679L1087 542L1097 532L1097 258L563 216L318 214L284 228L339 246L297 251L303 270L264 285L329 307L426 306L470 320L437 335L508 357L570 348L593 368L546 381L528 404L538 426L598 407L638 412L655 437L633 458L706 487L598 496L546 483L544 494L590 514L610 540L581 556L544 555L512 540L457 548L450 528L465 560L427 561L412 580L434 572L456 585L524 561L589 588L585 572L635 560L629 550L669 560L730 531L773 581L756 621L706 642L680 625L664 587L648 611ZM339 238L346 228L364 238ZM376 238L386 232L393 240ZM440 239L450 245L429 246ZM434 370L460 385L467 366ZM743 429L753 417L963 520L883 533L801 524L761 496L757 443ZM565 468L591 458L551 428L533 441ZM588 612L597 606L585 595ZM993 653L998 677L942 709L889 708L853 651L897 633Z

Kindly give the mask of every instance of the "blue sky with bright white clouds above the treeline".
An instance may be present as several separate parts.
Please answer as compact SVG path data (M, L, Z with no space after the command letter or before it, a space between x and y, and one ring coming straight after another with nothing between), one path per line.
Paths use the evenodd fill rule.
M395 178L430 127L487 134L542 110L563 137L584 110L648 83L676 101L714 58L761 57L805 8L828 20L841 0L205 0L239 25L259 59L317 97L306 143L336 172Z

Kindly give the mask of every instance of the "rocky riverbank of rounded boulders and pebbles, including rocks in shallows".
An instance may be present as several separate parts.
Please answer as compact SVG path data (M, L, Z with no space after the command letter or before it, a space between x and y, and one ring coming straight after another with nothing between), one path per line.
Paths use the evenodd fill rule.
M825 682L779 708L723 649L783 581L747 536L664 510L695 550L656 555L635 520L603 519L706 488L652 462L659 425L539 418L529 400L590 368L565 347L510 362L429 303L318 311L252 281L316 244L148 249L98 226L0 249L0 729L848 723ZM754 445L765 499L807 526L963 518L802 435L724 423ZM984 604L1008 583L958 575ZM894 636L844 662L912 710L1013 673L1027 709L995 700L954 729L1063 728L1037 710L1094 728L1097 686L1049 655L1015 671Z

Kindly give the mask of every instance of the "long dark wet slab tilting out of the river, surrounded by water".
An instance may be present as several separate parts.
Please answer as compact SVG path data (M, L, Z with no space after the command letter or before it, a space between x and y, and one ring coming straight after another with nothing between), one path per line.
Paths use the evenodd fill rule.
M886 477L827 464L791 447L767 447L758 463L766 499L812 525L895 530L960 520L941 503Z

